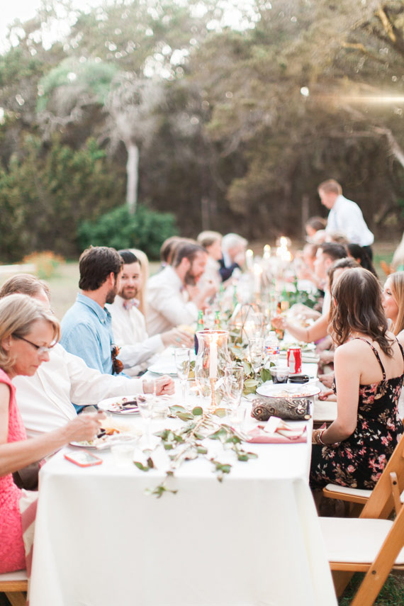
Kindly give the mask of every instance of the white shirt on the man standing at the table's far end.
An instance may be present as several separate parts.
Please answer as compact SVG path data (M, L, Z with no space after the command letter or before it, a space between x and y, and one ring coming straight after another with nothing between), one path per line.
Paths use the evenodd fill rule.
M349 242L359 246L370 246L374 242L374 235L366 225L361 209L344 196L337 196L335 199L327 218L325 231L340 232Z

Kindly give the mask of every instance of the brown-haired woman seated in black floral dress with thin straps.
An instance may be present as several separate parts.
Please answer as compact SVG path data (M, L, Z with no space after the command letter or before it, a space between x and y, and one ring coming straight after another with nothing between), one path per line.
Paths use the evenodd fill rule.
M310 486L374 488L403 434L397 406L404 351L387 330L380 286L370 271L345 271L332 297L338 413L326 430L313 431Z

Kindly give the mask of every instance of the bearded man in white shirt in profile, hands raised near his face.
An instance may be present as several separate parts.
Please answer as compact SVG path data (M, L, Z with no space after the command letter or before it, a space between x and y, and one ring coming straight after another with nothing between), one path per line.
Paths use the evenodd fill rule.
M147 330L149 335L198 319L198 309L215 293L215 286L199 289L208 253L203 247L184 242L168 265L147 281Z

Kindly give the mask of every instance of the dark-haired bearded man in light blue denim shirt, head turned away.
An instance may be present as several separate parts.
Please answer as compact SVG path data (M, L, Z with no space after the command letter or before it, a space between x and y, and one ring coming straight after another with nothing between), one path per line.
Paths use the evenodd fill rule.
M118 293L122 266L123 259L114 248L91 246L84 250L79 259L82 292L61 324L62 347L106 374L122 370L113 347L111 314L105 307Z

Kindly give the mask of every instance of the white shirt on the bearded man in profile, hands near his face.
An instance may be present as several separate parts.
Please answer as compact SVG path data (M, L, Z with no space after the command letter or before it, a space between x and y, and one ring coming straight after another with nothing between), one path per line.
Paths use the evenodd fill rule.
M183 284L172 266L167 266L147 280L147 330L157 335L178 326L198 320L195 303L186 303Z

